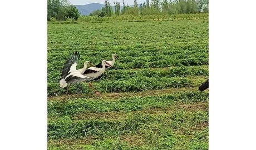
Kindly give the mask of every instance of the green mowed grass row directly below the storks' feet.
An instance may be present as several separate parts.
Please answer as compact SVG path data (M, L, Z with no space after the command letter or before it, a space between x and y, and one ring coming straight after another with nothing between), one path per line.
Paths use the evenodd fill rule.
M85 99L78 98L72 101L67 99L66 103L59 101L48 102L48 117L75 116L87 112L109 112L109 111L139 111L148 107L170 106L175 102L206 102L208 93L183 92L164 94L160 96L127 97L119 99Z

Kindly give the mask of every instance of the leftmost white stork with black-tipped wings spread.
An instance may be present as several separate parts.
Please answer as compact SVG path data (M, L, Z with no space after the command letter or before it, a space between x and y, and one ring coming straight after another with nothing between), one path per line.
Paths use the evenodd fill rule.
M60 81L61 88L67 87L68 84L71 85L71 84L75 84L75 83L81 83L81 82L92 80L91 77L85 76L83 74L83 72L86 71L89 64L91 66L93 66L93 64L86 61L84 63L83 68L77 70L76 66L77 66L77 61L79 58L80 58L80 53L75 52L73 55L71 55L67 59L66 63L64 64L64 68L63 68L62 74L61 74L61 77L62 77L62 79ZM67 93L68 93L68 88L69 88L69 86L67 87Z

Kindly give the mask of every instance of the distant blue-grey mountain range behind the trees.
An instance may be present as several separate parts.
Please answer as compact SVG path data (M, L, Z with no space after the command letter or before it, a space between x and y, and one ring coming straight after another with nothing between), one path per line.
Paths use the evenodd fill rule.
M114 4L112 5L113 11L115 11ZM104 4L99 4L99 3L91 3L91 4L86 4L86 5L75 5L78 11L81 13L81 15L89 15L93 11L97 11L98 9L101 10L102 7L105 7ZM130 7L134 7L133 5ZM121 6L122 9L122 6Z

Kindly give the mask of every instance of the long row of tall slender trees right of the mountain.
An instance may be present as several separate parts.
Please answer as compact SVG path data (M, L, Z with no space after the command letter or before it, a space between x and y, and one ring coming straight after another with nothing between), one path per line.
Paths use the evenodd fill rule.
M90 16L98 15L100 17L111 17L120 15L135 15L145 16L154 14L189 14L189 13L208 13L209 0L146 0L144 3L137 3L134 0L134 7L130 7L129 4L125 4L122 0L122 8L120 2L114 2L114 11L109 3L109 0L105 0L105 7L101 10L92 12Z

